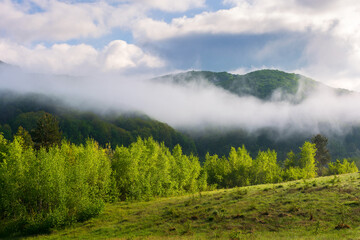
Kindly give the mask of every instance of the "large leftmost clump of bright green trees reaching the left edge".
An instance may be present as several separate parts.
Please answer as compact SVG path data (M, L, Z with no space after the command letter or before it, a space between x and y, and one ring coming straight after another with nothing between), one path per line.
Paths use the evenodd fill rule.
M97 143L35 151L20 136L0 139L0 218L16 220L16 231L43 232L100 212L111 164Z

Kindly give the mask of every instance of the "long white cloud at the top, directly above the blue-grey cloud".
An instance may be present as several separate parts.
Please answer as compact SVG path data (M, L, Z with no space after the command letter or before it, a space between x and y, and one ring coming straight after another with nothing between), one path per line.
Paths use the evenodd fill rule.
M307 8L306 8L307 9ZM292 1L240 1L235 7L203 12L193 18L175 18L171 23L140 19L137 36L160 40L187 34L263 34L277 31L328 31L337 18L330 12L314 14ZM153 32L153 27L158 29Z

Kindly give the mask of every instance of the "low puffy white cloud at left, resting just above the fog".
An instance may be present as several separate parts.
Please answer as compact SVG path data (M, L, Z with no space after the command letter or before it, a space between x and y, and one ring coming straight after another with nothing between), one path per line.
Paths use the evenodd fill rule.
M96 72L152 69L165 65L158 57L122 40L110 42L102 50L90 45L54 44L51 47L23 45L0 40L2 60L35 72L88 75Z

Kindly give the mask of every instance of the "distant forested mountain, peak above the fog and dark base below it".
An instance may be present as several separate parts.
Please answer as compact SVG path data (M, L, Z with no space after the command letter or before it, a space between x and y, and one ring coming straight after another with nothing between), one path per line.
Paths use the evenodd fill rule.
M238 96L253 96L263 101L288 101L299 104L309 95L319 89L332 90L338 95L349 94L351 91L335 89L300 74L286 73L279 70L259 70L244 75L227 72L189 71L170 74L155 78L154 81L186 84L196 81L206 81L216 87ZM329 149L334 158L360 157L360 127L352 126L346 134L339 135L327 129L326 123L320 123L323 134L329 138ZM193 130L183 129L192 136L200 156L206 152L212 154L227 154L231 146L245 145L256 156L259 150L275 149L280 159L285 159L290 150L298 151L304 141L310 141L309 133L297 133L282 136L276 129L263 128L248 132L241 127L222 129L208 128L202 134ZM359 158L360 159L360 158ZM360 162L359 162L360 163Z

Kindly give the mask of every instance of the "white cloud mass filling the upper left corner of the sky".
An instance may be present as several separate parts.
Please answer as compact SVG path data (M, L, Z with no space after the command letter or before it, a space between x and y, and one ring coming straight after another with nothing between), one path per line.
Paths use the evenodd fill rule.
M203 7L205 0L120 0L76 2L0 1L0 33L19 43L97 38L116 27L131 30L151 9L183 12Z

